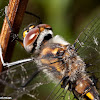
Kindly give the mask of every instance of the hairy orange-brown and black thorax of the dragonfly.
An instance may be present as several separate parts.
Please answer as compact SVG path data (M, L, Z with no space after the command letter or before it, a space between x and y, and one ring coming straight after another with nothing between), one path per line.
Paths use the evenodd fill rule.
M69 43L63 45L47 42L39 58L41 63L47 66L50 72L56 73L55 76L59 79L68 76L70 81L74 81L81 76L81 73L85 73L85 63Z

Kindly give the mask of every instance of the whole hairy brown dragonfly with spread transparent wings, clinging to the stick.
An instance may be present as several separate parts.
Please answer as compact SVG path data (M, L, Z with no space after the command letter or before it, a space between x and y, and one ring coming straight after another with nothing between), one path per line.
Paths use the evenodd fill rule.
M6 18L10 27L7 14ZM5 95L19 98L27 94L37 100L36 92L33 92L34 96L30 91L54 82L56 86L46 100L100 100L100 71L96 70L100 69L99 25L100 15L83 29L73 45L59 35L53 36L50 25L28 25L24 29L23 40L18 37L16 39L27 52L32 53L30 58L5 63L0 47L2 64L8 67L8 70L0 74L0 83L13 89Z

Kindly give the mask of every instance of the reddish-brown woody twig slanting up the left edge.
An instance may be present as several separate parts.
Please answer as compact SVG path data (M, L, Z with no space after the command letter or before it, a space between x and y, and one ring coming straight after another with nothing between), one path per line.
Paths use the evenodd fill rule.
M28 0L9 0L7 8L7 15L11 23L11 27L15 34L18 34L20 25L22 23L23 15L27 6ZM3 57L5 57L6 49L9 42L11 30L4 19L3 27L0 35L0 44L3 49ZM2 71L2 63L0 62L0 72Z

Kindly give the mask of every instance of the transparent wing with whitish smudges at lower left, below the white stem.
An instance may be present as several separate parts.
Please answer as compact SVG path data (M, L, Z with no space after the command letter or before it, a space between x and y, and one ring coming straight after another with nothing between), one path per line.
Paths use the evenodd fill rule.
M26 94L27 98L33 98L34 100L39 99L43 93L45 94L46 91L42 91L41 86L51 82L51 80L49 80L42 71L39 72L29 84L27 84L25 87L21 87L36 71L38 71L37 65L33 62L12 66L12 68L4 71L0 75L0 84L2 84L0 86L4 89L4 91L0 92L0 95L10 96L12 99L14 99L19 97L22 98L22 96ZM48 95L50 90L46 92ZM46 98L47 94L44 96L44 98ZM40 100L44 100L44 98ZM25 100L25 97L22 99Z

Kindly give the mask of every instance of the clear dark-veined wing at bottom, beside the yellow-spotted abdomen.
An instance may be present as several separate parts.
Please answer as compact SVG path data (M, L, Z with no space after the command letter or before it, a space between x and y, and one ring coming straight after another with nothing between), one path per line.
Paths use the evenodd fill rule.
M53 88L46 100L77 100L72 91L68 90L69 85L61 88L62 80Z

